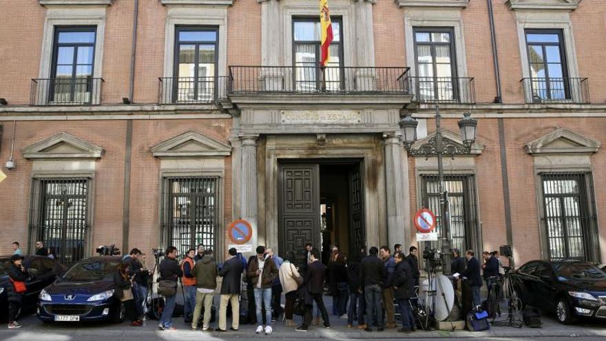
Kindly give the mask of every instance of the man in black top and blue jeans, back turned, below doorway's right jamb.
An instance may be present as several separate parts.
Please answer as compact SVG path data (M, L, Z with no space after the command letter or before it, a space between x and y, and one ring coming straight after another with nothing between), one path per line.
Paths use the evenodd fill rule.
M370 247L368 256L362 259L360 263L360 278L362 279L362 287L364 287L364 298L366 299L366 320L367 326L365 331L373 331L370 328L370 322L373 322L375 316L377 318L377 327L379 331L383 331L383 298L382 285L384 278L387 276L387 270L383 260L379 259L377 254L379 249Z

